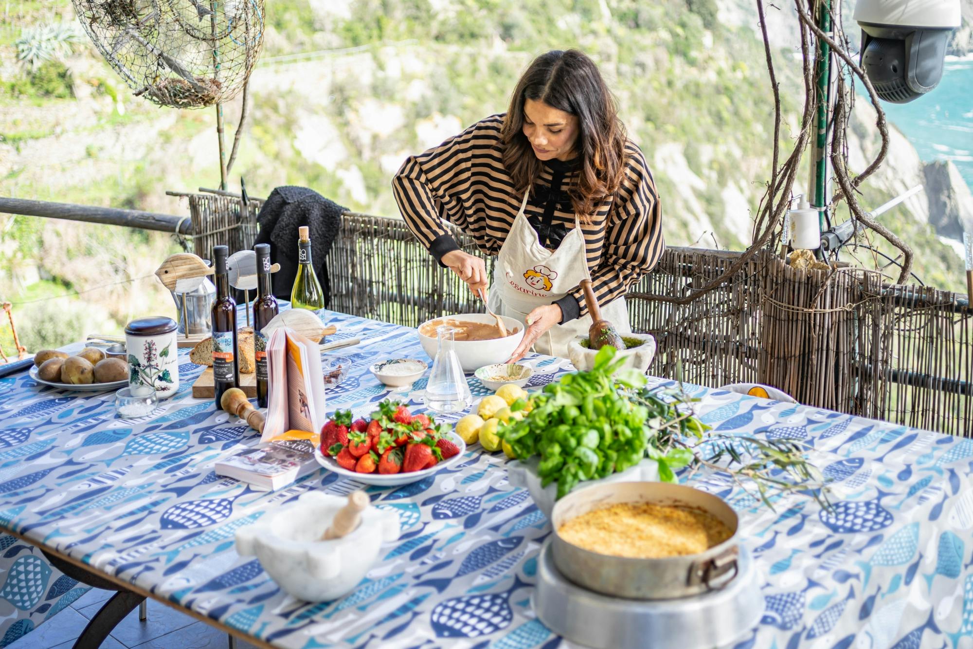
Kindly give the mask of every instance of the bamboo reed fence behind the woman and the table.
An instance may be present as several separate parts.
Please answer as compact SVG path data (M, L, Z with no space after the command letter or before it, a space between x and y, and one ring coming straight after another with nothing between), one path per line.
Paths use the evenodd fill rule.
M479 254L454 231L460 247ZM809 405L969 437L973 326L965 297L892 286L862 269L794 269L770 251L687 305L739 253L669 248L629 293L631 327L658 342L649 373L718 387L772 385ZM486 259L491 270L492 259ZM484 305L400 219L345 214L327 260L332 309L416 326Z

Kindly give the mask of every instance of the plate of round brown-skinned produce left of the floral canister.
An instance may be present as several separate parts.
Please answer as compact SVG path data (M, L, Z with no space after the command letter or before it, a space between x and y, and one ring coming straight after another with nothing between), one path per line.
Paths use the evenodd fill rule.
M128 363L110 358L97 347L86 347L74 356L55 349L34 355L30 378L59 390L105 392L128 385Z

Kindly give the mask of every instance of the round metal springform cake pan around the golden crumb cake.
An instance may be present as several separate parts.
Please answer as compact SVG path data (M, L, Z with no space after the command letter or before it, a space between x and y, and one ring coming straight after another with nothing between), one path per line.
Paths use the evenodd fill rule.
M575 516L619 503L683 505L721 520L733 535L700 554L631 558L598 554L565 541L560 526ZM672 599L719 590L738 573L739 518L721 498L668 482L616 482L578 489L561 498L551 514L551 545L560 573L582 588L627 599Z

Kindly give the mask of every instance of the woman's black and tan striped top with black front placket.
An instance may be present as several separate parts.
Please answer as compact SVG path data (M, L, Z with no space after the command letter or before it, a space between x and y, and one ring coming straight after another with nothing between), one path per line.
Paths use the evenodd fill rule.
M471 235L488 255L500 252L514 225L523 195L515 194L500 155L503 119L503 114L487 117L439 146L410 156L392 180L406 223L441 264L444 254L458 249L442 219ZM631 141L626 151L622 185L614 196L596 205L590 223L581 224L600 304L624 296L665 249L652 173ZM571 170L571 163L545 164L527 200L524 214L545 248L557 248L563 233L575 226L567 196ZM580 287L556 303L563 314L561 322L588 313Z

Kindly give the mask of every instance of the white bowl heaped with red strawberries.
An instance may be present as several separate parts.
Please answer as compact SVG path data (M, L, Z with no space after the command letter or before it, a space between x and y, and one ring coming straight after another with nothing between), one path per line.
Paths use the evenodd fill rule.
M321 428L318 463L365 484L409 484L450 466L466 444L432 415L413 414L401 401L382 401L371 419L352 421L350 410L336 410Z

